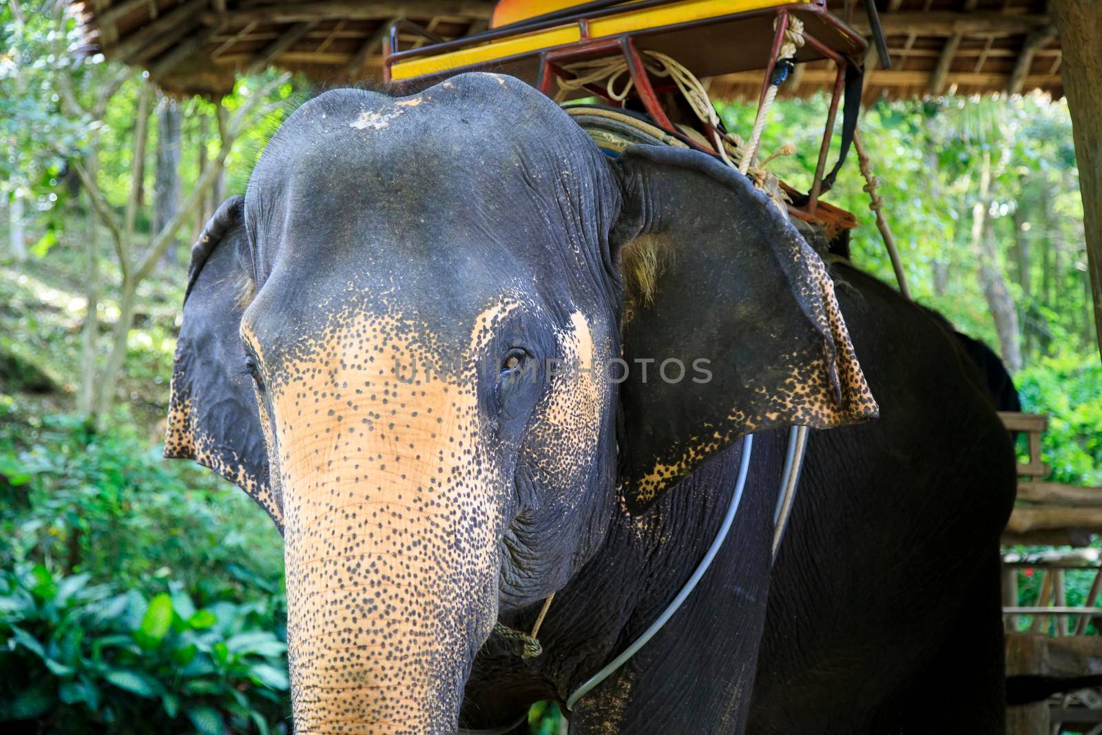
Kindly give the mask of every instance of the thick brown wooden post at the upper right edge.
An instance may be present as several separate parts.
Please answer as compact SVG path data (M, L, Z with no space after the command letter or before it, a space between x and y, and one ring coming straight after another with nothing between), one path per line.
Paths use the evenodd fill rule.
M1094 326L1102 350L1102 3L1052 0L1060 33L1063 78L1071 110L1079 194L1083 199L1087 263L1094 294Z

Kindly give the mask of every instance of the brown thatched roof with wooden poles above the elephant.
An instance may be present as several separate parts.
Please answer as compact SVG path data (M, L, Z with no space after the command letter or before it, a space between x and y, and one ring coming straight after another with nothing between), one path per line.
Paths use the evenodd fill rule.
M863 34L861 2L832 10ZM866 99L1028 91L1063 94L1060 46L1038 0L882 0L890 69L866 76ZM143 66L166 89L220 94L235 74L269 64L322 84L381 75L391 22L409 19L444 39L486 30L490 0L84 0L90 40L109 58ZM402 34L401 48L424 43ZM764 61L764 60L763 60ZM868 60L872 62L872 54ZM833 82L831 62L801 65L787 94ZM875 67L875 62L872 67ZM760 74L715 77L713 95L756 95Z

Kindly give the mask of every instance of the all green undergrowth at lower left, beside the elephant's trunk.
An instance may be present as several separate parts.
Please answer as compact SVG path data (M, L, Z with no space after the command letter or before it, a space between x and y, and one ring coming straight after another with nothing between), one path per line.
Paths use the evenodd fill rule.
M240 490L0 394L0 722L285 732L282 542Z

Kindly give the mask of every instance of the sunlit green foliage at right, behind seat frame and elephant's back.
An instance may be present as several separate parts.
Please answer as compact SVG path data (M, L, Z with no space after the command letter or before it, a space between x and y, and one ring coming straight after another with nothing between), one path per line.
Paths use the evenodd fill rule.
M823 95L780 100L761 136L763 155L795 144L795 155L774 160L769 170L802 191L811 185L827 105ZM719 102L716 108L730 129L748 133L756 101ZM840 150L839 129L830 165ZM865 110L861 129L885 216L911 294L919 302L1000 349L977 281L979 263L968 247L979 190L977 161L987 151L994 169L994 202L987 214L1003 253L996 266L1006 274L1018 307L1027 364L1035 356L1095 349L1082 202L1065 101L1041 95L882 100ZM894 283L855 152L850 156L824 199L857 217L860 227L852 233L854 261Z

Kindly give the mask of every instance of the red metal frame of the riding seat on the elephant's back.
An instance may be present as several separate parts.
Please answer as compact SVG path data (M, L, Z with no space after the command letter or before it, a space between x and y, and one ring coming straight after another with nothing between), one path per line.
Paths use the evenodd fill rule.
M631 6L633 9L642 9L653 6L668 4L670 2L676 2L678 0L644 0ZM646 66L642 61L642 56L639 54L638 48L635 46L635 37L639 35L647 35L649 33L667 31L670 29L684 29L692 28L695 25L704 25L710 23L716 23L725 20L731 20L732 18L747 18L754 15L769 14L773 13L777 17L777 22L775 23L776 30L773 37L773 46L769 53L769 58L766 64L765 75L761 80L761 89L758 94L758 105L765 100L766 91L769 88L770 79L773 78L774 69L776 68L778 56L780 54L781 45L785 40L785 31L789 24L790 12L793 10L799 10L803 13L815 13L829 25L834 26L839 32L849 37L858 47L864 47L865 41L862 36L857 35L855 31L845 25L841 20L831 14L825 9L825 0L820 0L817 3L797 3L788 6L779 6L775 8L764 8L760 10L744 11L742 13L735 13L733 15L724 15L719 18L710 18L699 21L690 21L687 23L680 23L672 26L666 26L662 29L646 29L644 31L624 33L617 36L603 37L603 39L591 39L590 37L590 21L595 18L602 18L609 14L615 14L624 11L623 6L614 6L599 11L592 12L584 18L550 18L545 21L534 20L525 24L522 29L517 26L506 26L499 30L493 30L485 33L480 33L473 36L467 36L464 39L456 39L454 41L443 41L440 36L432 34L420 26L411 23L409 21L398 21L390 29L390 36L388 43L383 47L383 80L390 83L390 67L393 63L399 61L406 61L408 58L424 56L429 54L440 54L447 51L453 51L456 48L462 48L464 46L471 45L472 43L482 43L485 41L493 41L498 37L506 37L517 32L529 33L532 31L543 30L545 28L553 28L559 25L564 25L568 23L577 23L581 32L581 41L572 43L568 46L562 46L559 48L552 48L548 51L538 52L539 61L539 73L537 77L536 87L544 95L553 96L553 80L555 77L570 78L570 72L563 68L563 65L583 57L591 57L598 54L623 54L625 62L627 63L628 73L630 74L633 82L633 96L637 98L647 110L647 112L653 118L656 125L666 130L668 133L674 136L679 140L685 142L688 145L715 155L717 151L713 150L709 145L703 145L698 141L689 138L678 130L672 121L667 116L666 111L662 109L661 104L658 99L658 90L655 89L651 83L650 75L647 73ZM422 46L420 48L411 48L407 51L398 51L398 34L400 31L409 31L417 35L420 35L434 43L429 46ZM806 43L810 44L815 51L818 51L823 56L830 58L834 62L838 67L838 73L834 78L834 86L831 90L831 101L830 108L827 115L827 128L823 133L822 144L819 148L819 159L815 163L814 177L812 179L811 192L808 197L808 202L804 207L795 207L789 205L789 210L793 215L800 216L801 218L813 217L819 205L819 194L822 188L823 173L827 170L827 159L830 152L830 143L834 134L834 122L838 118L838 107L841 99L842 85L845 79L845 71L850 64L854 62L846 55L841 54L822 41L817 39L813 34L808 32L807 29L803 31L803 39ZM518 55L516 57L507 57L497 60L496 63L507 63L509 61L516 61L530 56L531 53L526 53ZM478 68L477 65L473 67L462 67L456 69L451 69L449 74L457 74L468 68ZM596 96L604 98L611 105L617 105L616 100L608 98L607 91L602 89L597 85L586 85L585 89ZM620 104L622 105L622 104ZM707 132L712 132L709 130Z

